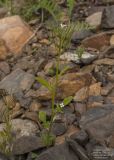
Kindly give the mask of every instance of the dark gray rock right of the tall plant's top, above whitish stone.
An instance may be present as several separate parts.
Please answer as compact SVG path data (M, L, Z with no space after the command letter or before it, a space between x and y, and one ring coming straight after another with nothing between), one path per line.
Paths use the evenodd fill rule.
M72 36L72 42L73 43L79 43L81 40L92 36L93 33L90 30L83 30L80 32L74 32Z

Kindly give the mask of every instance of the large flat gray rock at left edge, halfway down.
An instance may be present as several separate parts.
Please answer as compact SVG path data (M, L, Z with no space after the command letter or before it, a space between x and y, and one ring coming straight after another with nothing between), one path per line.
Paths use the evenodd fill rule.
M0 82L0 89L9 93L29 90L34 82L34 76L21 69L16 69Z

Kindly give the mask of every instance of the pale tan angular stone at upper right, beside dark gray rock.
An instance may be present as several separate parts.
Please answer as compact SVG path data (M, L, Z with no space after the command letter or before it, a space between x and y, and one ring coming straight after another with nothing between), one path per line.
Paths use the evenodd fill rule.
M99 27L101 25L102 12L96 12L86 18L90 26Z

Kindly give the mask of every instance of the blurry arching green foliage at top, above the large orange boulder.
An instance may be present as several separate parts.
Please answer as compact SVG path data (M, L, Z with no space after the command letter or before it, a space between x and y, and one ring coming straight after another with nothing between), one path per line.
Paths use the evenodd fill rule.
M21 15L28 21L34 17L35 11L37 12L39 10L41 10L41 22L44 22L46 12L48 12L56 22L59 19L60 9L53 0L27 1L21 10Z

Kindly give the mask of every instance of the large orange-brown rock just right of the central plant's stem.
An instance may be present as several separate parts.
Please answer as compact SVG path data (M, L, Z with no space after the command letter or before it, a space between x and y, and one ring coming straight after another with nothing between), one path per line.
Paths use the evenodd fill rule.
M89 73L68 73L59 82L59 97L73 96L81 88L90 85L92 76Z

